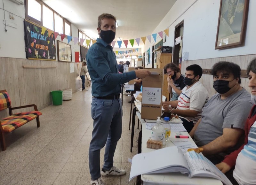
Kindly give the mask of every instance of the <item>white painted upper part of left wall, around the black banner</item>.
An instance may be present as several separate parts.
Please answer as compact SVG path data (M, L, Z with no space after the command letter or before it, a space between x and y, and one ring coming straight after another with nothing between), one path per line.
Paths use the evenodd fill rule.
M4 20L4 12L6 24L17 25L15 26L16 28L7 26L7 32L4 31L5 26L2 22ZM14 17L14 20L9 18L9 14ZM26 58L23 25L24 19L24 5L18 5L8 0L4 0L3 4L3 1L0 1L0 57ZM71 24L71 32L72 36L78 37L77 27L73 24ZM57 40L61 40L60 35L57 37ZM68 40L64 38L63 42L68 43ZM69 44L72 47L72 62L75 62L75 51L80 51L80 46L78 44L75 45L74 41L70 41Z

